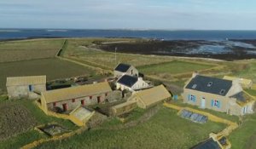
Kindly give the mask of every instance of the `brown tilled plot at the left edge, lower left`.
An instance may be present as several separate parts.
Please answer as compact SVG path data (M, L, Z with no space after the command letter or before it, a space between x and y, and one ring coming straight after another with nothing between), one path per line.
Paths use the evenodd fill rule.
M32 113L23 105L2 102L0 113L0 140L6 140L10 136L26 132L37 124Z

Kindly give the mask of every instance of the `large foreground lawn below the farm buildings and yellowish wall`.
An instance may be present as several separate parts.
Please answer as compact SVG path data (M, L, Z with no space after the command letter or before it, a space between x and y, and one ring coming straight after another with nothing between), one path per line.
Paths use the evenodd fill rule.
M116 121L113 119L113 121ZM108 122L114 125L119 123ZM62 141L38 148L189 148L209 133L224 129L221 123L192 123L177 116L177 111L161 106L147 122L127 129L90 129Z

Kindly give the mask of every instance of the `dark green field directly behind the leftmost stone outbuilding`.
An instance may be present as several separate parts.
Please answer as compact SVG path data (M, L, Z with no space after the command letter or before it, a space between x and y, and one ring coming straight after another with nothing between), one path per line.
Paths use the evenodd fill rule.
M80 75L95 75L88 67L59 59L25 60L0 63L0 89L6 89L6 77L47 75L47 80Z

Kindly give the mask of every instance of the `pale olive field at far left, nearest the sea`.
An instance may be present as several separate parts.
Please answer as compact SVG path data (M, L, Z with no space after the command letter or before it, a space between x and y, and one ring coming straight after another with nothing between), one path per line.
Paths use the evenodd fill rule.
M0 42L0 63L55 57L64 39L35 39Z

